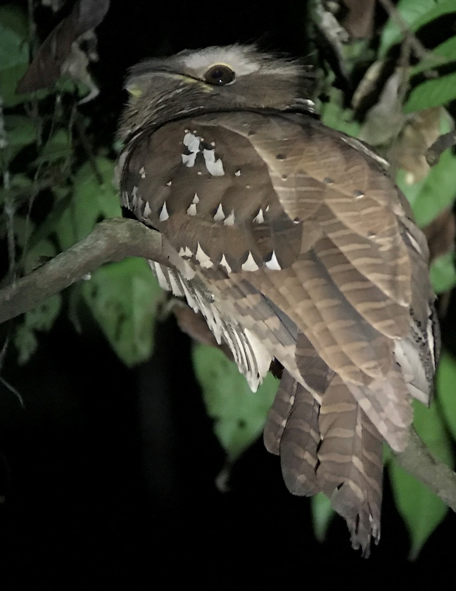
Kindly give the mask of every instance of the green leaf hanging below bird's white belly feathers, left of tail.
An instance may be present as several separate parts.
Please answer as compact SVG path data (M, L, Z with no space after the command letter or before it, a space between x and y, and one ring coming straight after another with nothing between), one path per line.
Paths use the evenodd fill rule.
M235 363L209 345L195 345L193 367L215 434L234 461L260 436L279 382L268 374L253 393Z

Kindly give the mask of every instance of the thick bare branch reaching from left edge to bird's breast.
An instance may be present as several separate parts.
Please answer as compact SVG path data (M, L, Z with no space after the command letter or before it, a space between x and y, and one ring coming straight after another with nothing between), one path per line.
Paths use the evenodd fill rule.
M131 219L104 220L77 242L30 275L0 290L0 323L33 310L47 297L62 291L102 264L127 256L142 256L167 265L161 236Z

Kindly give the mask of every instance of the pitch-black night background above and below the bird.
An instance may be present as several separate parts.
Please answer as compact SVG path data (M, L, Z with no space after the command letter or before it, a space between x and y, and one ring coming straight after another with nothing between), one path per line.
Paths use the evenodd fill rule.
M37 18L43 34L58 21L45 10ZM113 1L93 67L102 92L81 109L109 144L122 78L136 61L254 40L302 55L305 31L305 2ZM0 384L0 589L454 588L455 515L410 563L387 480L381 541L368 560L351 549L340 518L325 543L315 541L308 500L286 491L261 441L232 469L230 492L219 492L224 452L189 352L170 319L153 359L127 369L89 317L77 335L65 314L27 365L15 365L10 347L2 375L25 408Z

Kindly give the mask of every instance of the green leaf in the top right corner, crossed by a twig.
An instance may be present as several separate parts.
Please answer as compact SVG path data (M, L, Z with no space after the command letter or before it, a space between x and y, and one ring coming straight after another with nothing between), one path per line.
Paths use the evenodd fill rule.
M413 33L423 25L434 21L444 14L456 12L454 0L400 0L397 10L405 21L408 29ZM381 35L379 53L381 56L390 47L402 41L402 32L392 18L387 22Z

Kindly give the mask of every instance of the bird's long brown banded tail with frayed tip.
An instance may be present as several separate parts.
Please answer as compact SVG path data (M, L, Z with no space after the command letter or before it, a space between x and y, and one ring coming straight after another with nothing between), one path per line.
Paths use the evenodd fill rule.
M284 370L264 442L280 455L289 491L324 492L367 557L380 539L382 438L342 379L332 376L319 405Z

